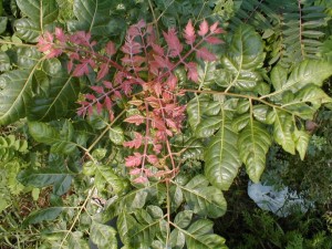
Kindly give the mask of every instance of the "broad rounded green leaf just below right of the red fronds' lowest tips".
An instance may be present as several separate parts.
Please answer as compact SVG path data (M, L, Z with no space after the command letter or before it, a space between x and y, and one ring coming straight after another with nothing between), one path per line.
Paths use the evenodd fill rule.
M178 186L195 214L217 218L225 214L227 204L221 190L208 185L206 177L197 175L186 186Z

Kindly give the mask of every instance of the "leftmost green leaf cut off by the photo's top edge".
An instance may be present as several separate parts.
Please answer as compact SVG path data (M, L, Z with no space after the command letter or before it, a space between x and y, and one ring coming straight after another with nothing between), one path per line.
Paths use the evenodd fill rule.
M20 10L40 27L56 20L59 8L56 0L17 0Z

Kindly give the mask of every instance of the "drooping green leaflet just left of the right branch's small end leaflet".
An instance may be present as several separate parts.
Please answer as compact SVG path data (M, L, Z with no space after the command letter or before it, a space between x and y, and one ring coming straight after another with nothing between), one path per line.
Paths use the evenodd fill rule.
M295 143L292 138L292 131L294 124L292 116L286 112L274 110L276 120L273 127L274 141L282 146L282 148L290 153L295 154Z

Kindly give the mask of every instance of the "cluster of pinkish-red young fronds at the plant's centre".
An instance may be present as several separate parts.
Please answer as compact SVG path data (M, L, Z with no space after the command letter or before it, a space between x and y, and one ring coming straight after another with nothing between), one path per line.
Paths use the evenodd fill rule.
M221 32L218 23L209 27L207 21L203 21L196 32L189 21L183 35L186 44L180 42L175 29L169 29L163 32L166 44L162 46L153 27L139 21L129 27L120 50L110 41L103 50L96 51L97 42L91 40L90 33L64 34L56 28L54 34L45 33L39 39L38 48L48 58L65 53L68 70L73 76L96 72L96 85L91 86L92 93L85 94L85 100L80 102L79 115L106 110L113 121L116 100L123 96L129 100L127 107L137 112L127 116L125 122L141 128L143 125L144 132L137 127L132 141L123 144L134 149L133 155L125 159L125 166L135 183L146 183L149 177L169 179L178 170L169 138L181 131L186 106L178 103L178 96L184 93L178 87L174 70L183 65L187 77L197 82L197 64L188 59L196 54L204 61L216 60L216 55L203 44L221 43L216 37ZM112 59L116 53L122 54L121 60ZM105 79L110 79L112 68L111 82ZM151 166L158 170L153 173Z

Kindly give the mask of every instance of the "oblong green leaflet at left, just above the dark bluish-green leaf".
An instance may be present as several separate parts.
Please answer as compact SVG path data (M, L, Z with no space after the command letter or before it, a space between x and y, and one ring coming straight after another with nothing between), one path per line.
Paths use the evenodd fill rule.
M60 154L72 154L76 144L60 136L52 126L41 122L29 122L29 133L39 143L51 145L51 152Z

